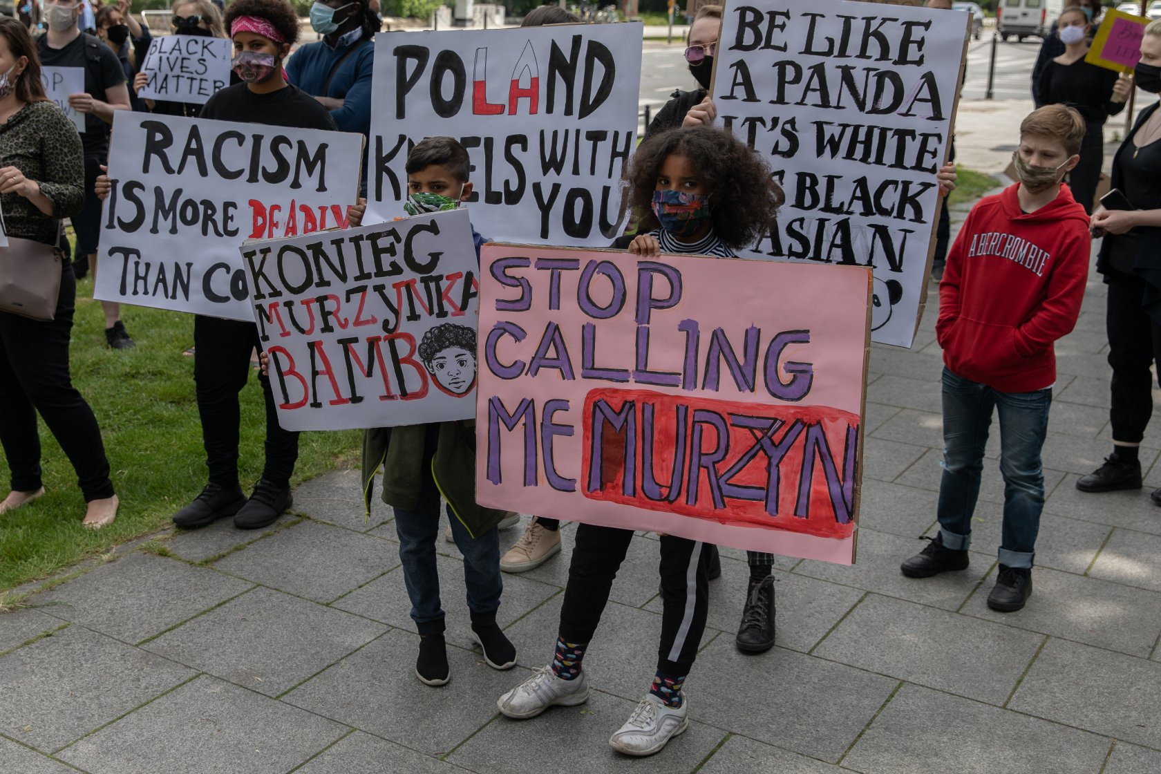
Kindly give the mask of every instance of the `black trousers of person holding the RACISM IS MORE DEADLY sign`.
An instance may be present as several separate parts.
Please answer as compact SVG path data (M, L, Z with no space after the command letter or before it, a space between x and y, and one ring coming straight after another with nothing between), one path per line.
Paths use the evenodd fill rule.
M250 378L250 353L258 347L253 323L194 317L194 383L197 413L202 418L202 441L210 483L238 484L238 436L241 412L238 393ZM259 376L266 398L266 465L262 478L279 486L290 483L298 460L298 433L279 426L271 381Z

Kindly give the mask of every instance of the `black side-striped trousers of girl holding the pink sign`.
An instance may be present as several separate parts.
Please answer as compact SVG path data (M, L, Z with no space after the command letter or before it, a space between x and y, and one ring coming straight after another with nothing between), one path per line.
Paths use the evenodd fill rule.
M563 641L592 641L632 540L630 529L577 526L569 584L561 606L560 636ZM661 538L662 617L657 668L669 674L688 674L698 656L709 608L707 549L707 544L684 537L665 535Z

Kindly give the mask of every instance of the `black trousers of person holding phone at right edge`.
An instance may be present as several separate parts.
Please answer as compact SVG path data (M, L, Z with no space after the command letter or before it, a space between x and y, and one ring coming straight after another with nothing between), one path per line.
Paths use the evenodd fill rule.
M1108 237L1105 237L1108 239ZM1109 284L1105 330L1109 364L1112 366L1112 440L1140 443L1153 414L1153 375L1149 366L1161 364L1161 325L1141 309L1145 280L1135 274L1112 272Z

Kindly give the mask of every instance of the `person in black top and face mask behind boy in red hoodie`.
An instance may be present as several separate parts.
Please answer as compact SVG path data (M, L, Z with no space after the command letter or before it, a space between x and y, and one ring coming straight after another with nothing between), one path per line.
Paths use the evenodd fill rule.
M1088 16L1080 8L1066 8L1057 21L1057 35L1065 52L1040 72L1039 93L1044 104L1067 104L1084 118L1087 131L1081 144L1081 161L1068 175L1073 198L1093 214L1096 186L1104 164L1104 122L1120 113L1128 95L1128 80L1117 72L1084 62L1088 53ZM1119 101L1113 102L1115 97Z

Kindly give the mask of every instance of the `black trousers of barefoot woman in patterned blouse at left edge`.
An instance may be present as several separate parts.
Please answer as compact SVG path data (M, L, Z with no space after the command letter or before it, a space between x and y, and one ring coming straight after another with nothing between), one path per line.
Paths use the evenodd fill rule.
M75 297L77 280L64 261L56 319L42 323L0 312L0 446L12 470L12 489L38 490L43 483L39 412L77 471L85 500L91 501L114 492L101 428L68 374Z

